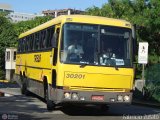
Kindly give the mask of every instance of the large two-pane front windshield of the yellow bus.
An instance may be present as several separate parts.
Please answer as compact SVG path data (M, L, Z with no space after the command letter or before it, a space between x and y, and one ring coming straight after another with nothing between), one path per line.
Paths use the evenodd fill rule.
M60 60L66 64L131 67L131 29L66 23Z

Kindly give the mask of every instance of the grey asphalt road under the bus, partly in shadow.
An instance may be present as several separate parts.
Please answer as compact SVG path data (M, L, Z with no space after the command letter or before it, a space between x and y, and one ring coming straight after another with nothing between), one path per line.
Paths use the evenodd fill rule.
M108 111L99 106L59 105L47 111L36 96L20 94L0 97L0 119L7 120L160 120L160 109L136 105L111 105Z

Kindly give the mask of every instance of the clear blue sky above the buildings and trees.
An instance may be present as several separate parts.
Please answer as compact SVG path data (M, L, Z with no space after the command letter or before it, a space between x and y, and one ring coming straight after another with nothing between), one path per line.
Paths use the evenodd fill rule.
M43 10L78 9L101 7L108 0L0 0L0 4L9 4L15 12L41 13Z

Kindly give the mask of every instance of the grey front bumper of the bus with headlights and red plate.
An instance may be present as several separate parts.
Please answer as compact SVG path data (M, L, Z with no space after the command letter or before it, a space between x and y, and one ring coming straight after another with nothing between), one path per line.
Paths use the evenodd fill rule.
M132 92L57 90L56 103L131 104Z

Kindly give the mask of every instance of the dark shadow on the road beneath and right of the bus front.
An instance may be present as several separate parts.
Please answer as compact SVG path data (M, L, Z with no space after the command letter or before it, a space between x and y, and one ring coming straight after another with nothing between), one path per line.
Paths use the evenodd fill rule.
M145 116L160 114L160 109L144 108L133 105L111 105L109 110L101 110L99 106L75 106L65 105L60 110L71 116L124 116L135 115Z

